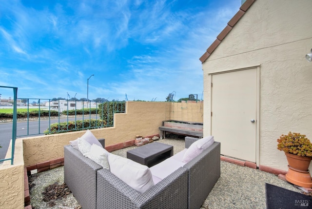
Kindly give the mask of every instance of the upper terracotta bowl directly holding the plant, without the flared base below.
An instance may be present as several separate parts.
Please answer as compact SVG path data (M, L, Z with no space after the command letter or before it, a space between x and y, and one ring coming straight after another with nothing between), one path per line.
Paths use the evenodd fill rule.
M300 171L308 171L310 162L312 160L312 157L306 157L306 156L299 156L294 155L292 153L286 153L285 155L287 157L288 165L296 170Z

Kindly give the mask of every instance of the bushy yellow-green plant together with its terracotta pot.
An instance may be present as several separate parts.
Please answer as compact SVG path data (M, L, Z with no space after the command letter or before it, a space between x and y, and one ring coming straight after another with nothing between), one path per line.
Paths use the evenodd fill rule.
M288 161L286 180L300 187L311 188L309 172L312 144L304 134L289 132L277 139L277 149L284 151Z

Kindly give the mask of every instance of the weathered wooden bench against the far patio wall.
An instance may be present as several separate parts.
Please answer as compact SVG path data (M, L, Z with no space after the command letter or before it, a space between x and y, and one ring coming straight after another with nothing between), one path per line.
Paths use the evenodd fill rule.
M193 127L193 126L198 125L197 123L192 124L190 122L184 122L184 121L163 121L162 125L163 126L159 126L160 139L166 138L166 133L175 133L175 134L180 134L180 135L185 135L185 136L194 136L198 138L203 137L203 131L202 131L201 126Z

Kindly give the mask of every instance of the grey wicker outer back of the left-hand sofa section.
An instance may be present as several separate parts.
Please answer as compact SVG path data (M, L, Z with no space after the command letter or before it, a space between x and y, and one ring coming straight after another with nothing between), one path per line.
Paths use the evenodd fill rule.
M96 209L97 163L72 146L64 146L64 182L83 209Z

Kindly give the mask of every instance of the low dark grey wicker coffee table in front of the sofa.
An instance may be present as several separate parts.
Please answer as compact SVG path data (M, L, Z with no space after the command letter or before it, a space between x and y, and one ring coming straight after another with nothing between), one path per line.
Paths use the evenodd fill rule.
M174 153L174 146L159 142L152 142L127 151L127 158L139 164L152 167L170 158Z

